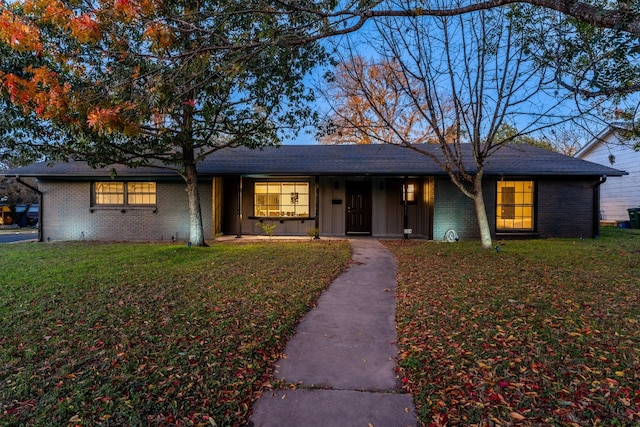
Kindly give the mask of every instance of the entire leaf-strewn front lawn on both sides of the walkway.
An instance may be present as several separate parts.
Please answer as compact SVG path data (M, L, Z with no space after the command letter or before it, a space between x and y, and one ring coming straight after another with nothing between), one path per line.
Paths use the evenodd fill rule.
M640 231L499 243L385 242L421 423L640 425ZM0 245L0 425L241 425L349 255Z

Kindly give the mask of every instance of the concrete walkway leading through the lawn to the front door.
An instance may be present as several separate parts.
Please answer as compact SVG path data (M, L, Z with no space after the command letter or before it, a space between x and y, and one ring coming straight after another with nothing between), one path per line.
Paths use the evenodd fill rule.
M295 390L265 393L250 425L415 427L395 374L396 262L374 239L350 240L353 264L288 342L276 377Z

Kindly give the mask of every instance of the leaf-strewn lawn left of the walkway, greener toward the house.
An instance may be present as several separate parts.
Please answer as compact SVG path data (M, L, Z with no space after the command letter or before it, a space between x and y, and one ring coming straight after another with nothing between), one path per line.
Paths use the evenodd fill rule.
M0 425L239 425L346 242L0 246Z

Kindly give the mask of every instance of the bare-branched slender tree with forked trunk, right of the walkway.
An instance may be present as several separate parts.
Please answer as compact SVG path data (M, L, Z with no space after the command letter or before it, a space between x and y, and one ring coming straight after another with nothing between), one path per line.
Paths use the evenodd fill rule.
M341 101L331 100L333 123L359 127L360 134L374 142L416 150L448 173L473 200L484 248L492 246L483 197L484 168L492 154L504 144L577 114L558 109L563 101L558 93L545 93L553 74L519 48L522 38L514 31L513 14L508 12L496 9L454 17L377 21L377 36L368 34L367 40L381 58L379 64L363 65L357 56L342 61L341 67L349 69L339 73L348 78L329 83L339 84L332 93L338 89L343 94ZM385 68L385 79L393 81L387 85L393 88L387 97L381 96L379 85L369 77L376 67ZM342 107L354 96L377 119L350 121ZM402 105L403 115L389 114L389 105ZM420 125L407 132L404 117ZM382 133L379 123L384 123ZM505 133L505 128L518 131ZM439 144L439 154L417 144L425 141ZM463 156L463 144L472 147L472 158Z

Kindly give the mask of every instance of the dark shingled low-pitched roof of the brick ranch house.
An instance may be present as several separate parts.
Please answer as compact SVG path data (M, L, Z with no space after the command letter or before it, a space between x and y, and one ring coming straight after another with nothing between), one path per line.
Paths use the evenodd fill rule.
M471 147L463 146L465 165L473 172ZM439 153L436 144L422 149ZM121 178L176 177L168 170L113 167ZM92 169L85 162L36 163L14 169L8 176L41 178L105 178L112 167ZM225 148L198 165L202 176L218 175L444 175L429 157L393 145L282 145L251 150ZM622 176L626 172L553 153L530 145L508 145L486 162L485 175Z

